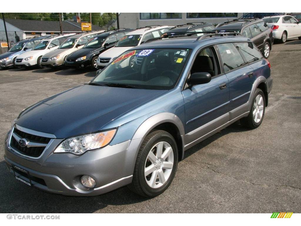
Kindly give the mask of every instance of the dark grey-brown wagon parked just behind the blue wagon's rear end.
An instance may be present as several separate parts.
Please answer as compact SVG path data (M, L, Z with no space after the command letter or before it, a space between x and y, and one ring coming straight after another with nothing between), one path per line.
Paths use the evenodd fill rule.
M255 46L262 52L265 58L268 58L274 37L272 30L268 25L259 18L252 19L235 19L218 24L213 31L227 32L236 31L240 32L242 36L248 37L254 42Z

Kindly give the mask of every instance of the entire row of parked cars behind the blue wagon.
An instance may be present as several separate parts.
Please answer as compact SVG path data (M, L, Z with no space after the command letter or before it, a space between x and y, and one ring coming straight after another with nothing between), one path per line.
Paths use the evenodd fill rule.
M295 15L296 17L299 15ZM250 38L265 58L268 58L274 39L301 39L301 24L293 15L271 16L263 19L236 19L218 24L188 23L176 27L147 26L139 29L115 29L56 36L40 36L16 43L0 55L0 67L59 67L92 66L102 69L128 49L161 36L202 36L207 32L237 32ZM233 35L233 34L229 34Z

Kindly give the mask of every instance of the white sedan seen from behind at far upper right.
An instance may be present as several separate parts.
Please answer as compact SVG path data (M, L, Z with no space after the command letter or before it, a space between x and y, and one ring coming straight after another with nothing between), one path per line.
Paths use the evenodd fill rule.
M281 43L287 39L301 39L301 23L290 15L264 17L262 20L272 29L274 38Z

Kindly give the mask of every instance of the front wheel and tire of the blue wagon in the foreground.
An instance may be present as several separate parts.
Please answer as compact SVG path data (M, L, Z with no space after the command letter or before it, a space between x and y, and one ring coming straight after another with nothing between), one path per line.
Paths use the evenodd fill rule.
M129 189L138 195L155 197L171 184L178 165L175 139L163 130L154 130L144 139L135 163Z

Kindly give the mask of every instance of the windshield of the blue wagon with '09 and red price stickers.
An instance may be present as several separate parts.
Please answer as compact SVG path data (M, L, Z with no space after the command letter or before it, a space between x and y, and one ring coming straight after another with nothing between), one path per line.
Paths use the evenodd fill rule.
M189 49L138 49L123 53L92 80L94 85L137 89L172 89Z

